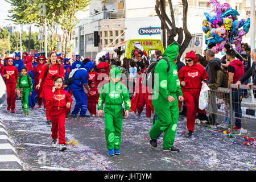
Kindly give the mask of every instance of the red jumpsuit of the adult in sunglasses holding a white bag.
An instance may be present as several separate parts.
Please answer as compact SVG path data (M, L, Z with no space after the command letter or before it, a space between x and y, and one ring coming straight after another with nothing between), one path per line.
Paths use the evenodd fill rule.
M178 75L180 82L185 81L185 86L181 85L181 88L187 107L187 128L188 131L194 131L196 113L206 114L205 110L200 110L198 105L201 82L209 77L204 67L199 64L193 64L191 67L186 65L180 69Z

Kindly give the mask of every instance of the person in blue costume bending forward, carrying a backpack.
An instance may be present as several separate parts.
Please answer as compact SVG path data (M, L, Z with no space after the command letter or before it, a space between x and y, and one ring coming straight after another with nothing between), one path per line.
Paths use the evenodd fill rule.
M71 113L72 117L77 118L78 117L77 114L80 112L80 117L89 118L90 115L86 115L87 96L83 88L84 86L88 91L88 93L90 92L90 88L88 86L88 81L87 81L88 72L86 71L85 68L80 68L80 69L77 69L73 77L75 78L75 81L73 81L72 84L68 86L68 88L71 90L71 92L73 93L73 96L76 99L76 105Z

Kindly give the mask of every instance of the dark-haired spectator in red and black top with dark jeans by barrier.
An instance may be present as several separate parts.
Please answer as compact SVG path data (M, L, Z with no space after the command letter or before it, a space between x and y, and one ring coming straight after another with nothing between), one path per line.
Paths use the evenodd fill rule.
M244 74L243 70L243 64L240 60L237 60L236 58L236 52L231 49L226 51L226 59L230 60L230 64L228 66L228 76L229 76L229 82L228 82L228 88L230 88L230 85L233 83L236 83ZM242 122L242 109L241 109L241 101L242 101L242 90L233 89L232 90L232 108L235 113L236 122L235 127L233 127L233 131L240 131Z

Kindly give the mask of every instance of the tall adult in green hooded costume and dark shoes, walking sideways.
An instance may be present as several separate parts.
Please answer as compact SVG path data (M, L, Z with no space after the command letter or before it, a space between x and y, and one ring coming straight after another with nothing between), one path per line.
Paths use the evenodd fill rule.
M174 147L174 139L176 134L177 120L179 118L179 101L183 101L183 94L180 89L180 81L177 75L177 65L174 63L179 53L179 46L176 42L166 48L163 56L170 63L170 70L167 72L168 64L164 59L159 60L155 66L154 92L152 105L157 115L157 120L150 130L150 144L157 147L156 139L164 131L163 150L179 152ZM158 94L157 98L154 98Z

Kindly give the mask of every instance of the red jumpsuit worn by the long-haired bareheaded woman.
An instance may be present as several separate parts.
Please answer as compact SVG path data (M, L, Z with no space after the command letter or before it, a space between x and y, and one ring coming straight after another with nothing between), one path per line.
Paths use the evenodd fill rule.
M43 97L44 106L46 106L47 120L51 120L51 117L49 114L50 111L49 111L49 108L47 107L48 105L47 102L51 100L51 94L49 93L52 92L53 80L56 76L59 76L59 75L61 77L65 76L63 67L61 65L59 65L59 67L57 63L52 65L52 67L48 69L48 73L46 76L48 64L45 64L39 76L39 78L42 79L42 83L43 83L43 84L41 83L40 85L40 87L42 86L42 92L40 93L40 97Z

